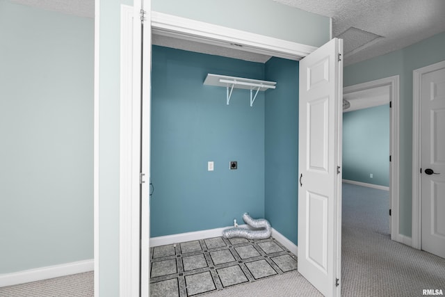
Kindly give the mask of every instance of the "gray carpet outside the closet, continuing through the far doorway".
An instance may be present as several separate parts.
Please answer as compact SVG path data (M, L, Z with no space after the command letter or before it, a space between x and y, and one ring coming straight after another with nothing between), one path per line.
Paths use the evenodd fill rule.
M343 184L342 296L445 294L445 259L391 241L388 192ZM92 273L0 288L1 297L93 296ZM297 271L200 296L321 296Z

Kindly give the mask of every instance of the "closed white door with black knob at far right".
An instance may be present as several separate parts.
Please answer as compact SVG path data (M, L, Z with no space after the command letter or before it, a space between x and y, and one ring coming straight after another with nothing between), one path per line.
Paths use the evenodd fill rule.
M420 92L422 250L445 258L445 65L422 75Z

